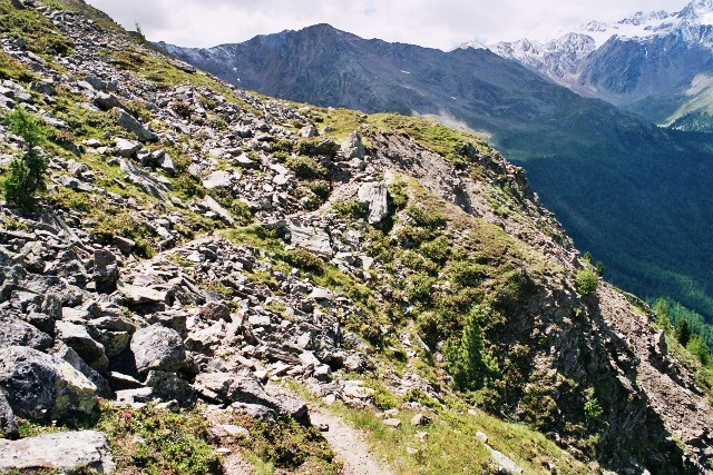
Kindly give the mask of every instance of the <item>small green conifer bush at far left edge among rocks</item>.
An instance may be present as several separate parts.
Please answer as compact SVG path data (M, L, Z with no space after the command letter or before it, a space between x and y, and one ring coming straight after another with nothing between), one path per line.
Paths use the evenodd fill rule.
M47 161L37 151L45 131L41 122L22 108L10 112L8 119L10 132L25 140L25 152L10 162L10 175L2 182L2 191L8 201L28 206L35 195L47 189Z

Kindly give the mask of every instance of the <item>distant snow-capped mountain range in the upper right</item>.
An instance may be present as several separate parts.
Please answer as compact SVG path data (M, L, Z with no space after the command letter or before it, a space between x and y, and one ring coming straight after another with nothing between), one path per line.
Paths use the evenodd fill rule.
M713 108L709 0L695 0L680 12L637 12L612 24L592 21L557 40L500 42L490 50L655 123L671 125Z

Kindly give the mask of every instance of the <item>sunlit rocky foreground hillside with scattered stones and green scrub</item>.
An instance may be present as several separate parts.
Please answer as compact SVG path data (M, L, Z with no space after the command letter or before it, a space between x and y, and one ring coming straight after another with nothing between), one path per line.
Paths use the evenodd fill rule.
M3 182L48 166L0 207L2 473L711 473L706 368L475 136L78 0L0 32Z

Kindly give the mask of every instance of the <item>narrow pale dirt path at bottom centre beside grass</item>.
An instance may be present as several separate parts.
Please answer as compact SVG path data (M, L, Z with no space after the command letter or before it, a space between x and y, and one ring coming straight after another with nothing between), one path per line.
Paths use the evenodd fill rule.
M326 424L330 427L322 435L344 464L343 475L391 475L369 449L359 431L341 418L312 407L310 418L314 425Z

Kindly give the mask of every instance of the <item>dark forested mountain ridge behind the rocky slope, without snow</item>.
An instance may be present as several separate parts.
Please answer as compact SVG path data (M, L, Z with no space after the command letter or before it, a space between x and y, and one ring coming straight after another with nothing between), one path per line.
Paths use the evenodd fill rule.
M592 44L582 36L561 43L574 57ZM527 168L543 201L614 283L713 317L704 136L658 129L484 49L363 40L325 24L212 49L160 47L262 93L480 131Z

